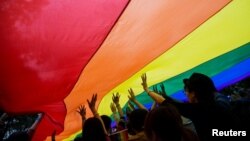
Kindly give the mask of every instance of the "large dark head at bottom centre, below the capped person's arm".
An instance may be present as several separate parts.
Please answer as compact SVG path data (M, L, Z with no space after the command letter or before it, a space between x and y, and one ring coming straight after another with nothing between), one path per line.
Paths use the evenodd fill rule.
M181 115L171 104L157 107L148 113L144 131L150 141L181 141Z

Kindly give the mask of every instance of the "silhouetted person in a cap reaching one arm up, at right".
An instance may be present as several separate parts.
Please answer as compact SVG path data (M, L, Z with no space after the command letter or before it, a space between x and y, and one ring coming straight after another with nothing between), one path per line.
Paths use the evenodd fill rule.
M181 115L193 121L200 140L213 140L212 129L219 131L237 131L237 121L230 112L225 110L215 101L216 88L213 81L206 75L193 73L190 78L184 79L184 90L189 103L181 103L169 96L163 98L157 93L150 91L147 86L146 74L142 75L144 90L158 104L173 104ZM216 136L218 134L214 134Z

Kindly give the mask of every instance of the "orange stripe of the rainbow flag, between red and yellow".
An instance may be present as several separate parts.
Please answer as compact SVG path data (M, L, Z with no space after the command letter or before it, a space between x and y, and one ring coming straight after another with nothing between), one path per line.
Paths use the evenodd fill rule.
M92 93L98 93L99 103L112 88L167 51L229 2L131 1L65 99L68 114L64 134L81 129L75 110L79 104L87 106L86 100Z

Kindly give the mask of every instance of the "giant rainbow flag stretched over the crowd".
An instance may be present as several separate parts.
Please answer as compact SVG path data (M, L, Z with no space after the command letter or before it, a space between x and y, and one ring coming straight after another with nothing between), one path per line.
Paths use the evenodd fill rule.
M93 93L100 114L113 92L125 106L129 88L152 103L142 73L179 100L193 72L218 89L250 75L249 0L12 0L0 11L0 108L44 113L34 141L54 130L72 140Z

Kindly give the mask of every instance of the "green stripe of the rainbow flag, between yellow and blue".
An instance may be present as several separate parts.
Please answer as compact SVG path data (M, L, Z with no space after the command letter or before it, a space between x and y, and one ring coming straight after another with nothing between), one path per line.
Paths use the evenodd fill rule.
M204 54L205 55L205 54ZM212 60L209 60L199 66L196 66L189 71L181 73L175 77L167 79L163 82L166 92L168 95L172 95L175 92L183 89L182 80L184 78L188 78L193 72L200 72L204 73L208 76L214 76L228 68L232 67L233 65L238 64L239 62L247 59L250 57L250 43L240 46L237 49L234 49L230 52L227 52L219 57L216 57ZM188 62L184 62L188 63ZM180 66L181 67L181 66ZM167 71L167 70L166 70ZM150 80L148 80L150 81ZM158 84L160 84L158 83ZM157 85L157 84L156 84ZM152 89L152 87L150 87ZM149 103L152 102L152 99L147 96L146 93L141 93L136 96L137 100L141 103ZM124 106L126 107L127 104Z

